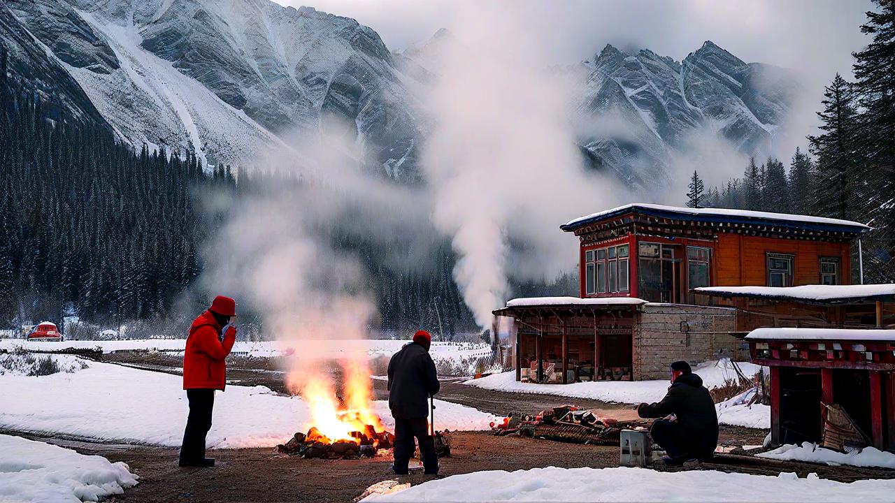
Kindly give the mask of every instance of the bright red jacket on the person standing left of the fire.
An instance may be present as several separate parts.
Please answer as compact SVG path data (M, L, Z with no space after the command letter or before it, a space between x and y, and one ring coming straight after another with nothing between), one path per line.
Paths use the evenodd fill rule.
M186 337L183 354L183 389L224 389L226 364L224 359L236 341L236 329L230 327L221 342L221 327L215 317L205 311L193 320Z

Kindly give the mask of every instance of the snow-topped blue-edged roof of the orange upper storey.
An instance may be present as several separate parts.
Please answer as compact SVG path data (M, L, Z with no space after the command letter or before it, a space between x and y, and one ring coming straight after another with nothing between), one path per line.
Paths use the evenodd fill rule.
M662 204L647 203L631 203L618 208L607 209L592 213L584 217L578 217L569 220L566 224L559 226L564 231L573 231L578 226L591 223L603 218L615 217L631 210L642 213L655 215L674 214L678 218L686 218L700 221L723 221L723 222L739 222L739 223L758 223L758 222L775 222L782 226L805 227L814 226L822 227L825 230L836 230L841 232L863 233L870 229L869 226L853 222L851 220L840 220L839 218L810 217L808 215L790 215L788 213L771 213L768 211L750 211L747 209L728 209L728 208L680 208L677 206L665 206Z

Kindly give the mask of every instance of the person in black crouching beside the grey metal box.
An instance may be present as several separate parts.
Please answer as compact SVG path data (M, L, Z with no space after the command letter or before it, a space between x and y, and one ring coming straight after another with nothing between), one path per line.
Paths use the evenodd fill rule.
M709 460L718 446L718 413L703 379L687 362L671 363L671 386L661 402L637 406L652 422L650 435L668 453L665 464L683 465L693 459Z

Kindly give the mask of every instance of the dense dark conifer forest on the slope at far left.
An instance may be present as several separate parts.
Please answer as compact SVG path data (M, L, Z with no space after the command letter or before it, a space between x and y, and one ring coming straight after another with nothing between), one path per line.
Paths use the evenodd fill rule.
M134 151L104 124L49 120L2 61L0 326L162 315L201 270L197 192L234 177L189 153Z

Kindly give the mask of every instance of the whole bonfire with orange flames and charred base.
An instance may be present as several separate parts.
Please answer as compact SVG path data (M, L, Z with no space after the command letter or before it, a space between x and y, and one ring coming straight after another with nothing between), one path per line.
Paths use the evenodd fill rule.
M370 371L362 362L343 362L343 399L336 395L332 379L322 372L299 378L290 374L289 388L300 389L308 404L307 432L294 434L277 452L289 456L354 459L376 456L392 447L392 434L372 410Z

